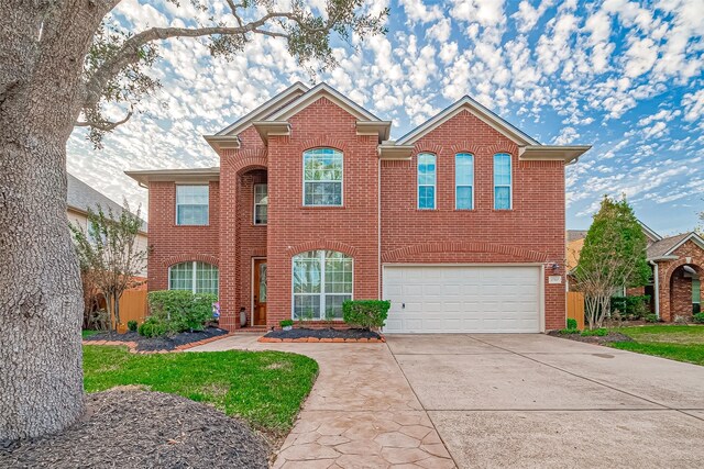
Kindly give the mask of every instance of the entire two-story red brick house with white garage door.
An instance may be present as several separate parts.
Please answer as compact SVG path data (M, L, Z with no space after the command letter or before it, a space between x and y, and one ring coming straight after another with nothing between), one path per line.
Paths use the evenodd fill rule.
M386 299L388 333L564 327L564 167L462 98L392 122L296 83L206 141L220 166L128 171L150 191L150 289L219 292L221 325L312 325Z

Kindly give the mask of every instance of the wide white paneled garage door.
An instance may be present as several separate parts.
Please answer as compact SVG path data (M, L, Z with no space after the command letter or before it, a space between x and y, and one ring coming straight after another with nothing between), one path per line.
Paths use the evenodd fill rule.
M384 266L385 333L536 333L536 266Z

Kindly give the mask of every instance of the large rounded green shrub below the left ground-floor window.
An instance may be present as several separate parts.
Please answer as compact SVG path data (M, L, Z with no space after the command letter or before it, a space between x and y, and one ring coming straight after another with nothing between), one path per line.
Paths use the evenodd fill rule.
M185 290L152 291L147 297L150 319L163 324L163 334L202 331L212 319L213 293L193 293Z

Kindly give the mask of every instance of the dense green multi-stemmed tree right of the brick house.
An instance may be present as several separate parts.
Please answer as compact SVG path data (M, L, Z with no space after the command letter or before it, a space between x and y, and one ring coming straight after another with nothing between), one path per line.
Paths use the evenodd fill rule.
M590 330L602 327L617 288L648 283L651 272L646 247L646 235L626 198L604 197L574 270Z

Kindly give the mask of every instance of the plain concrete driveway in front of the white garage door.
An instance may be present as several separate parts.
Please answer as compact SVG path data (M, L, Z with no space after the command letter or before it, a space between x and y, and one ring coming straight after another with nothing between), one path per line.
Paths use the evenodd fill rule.
M704 460L704 367L532 334L387 344L461 468Z

